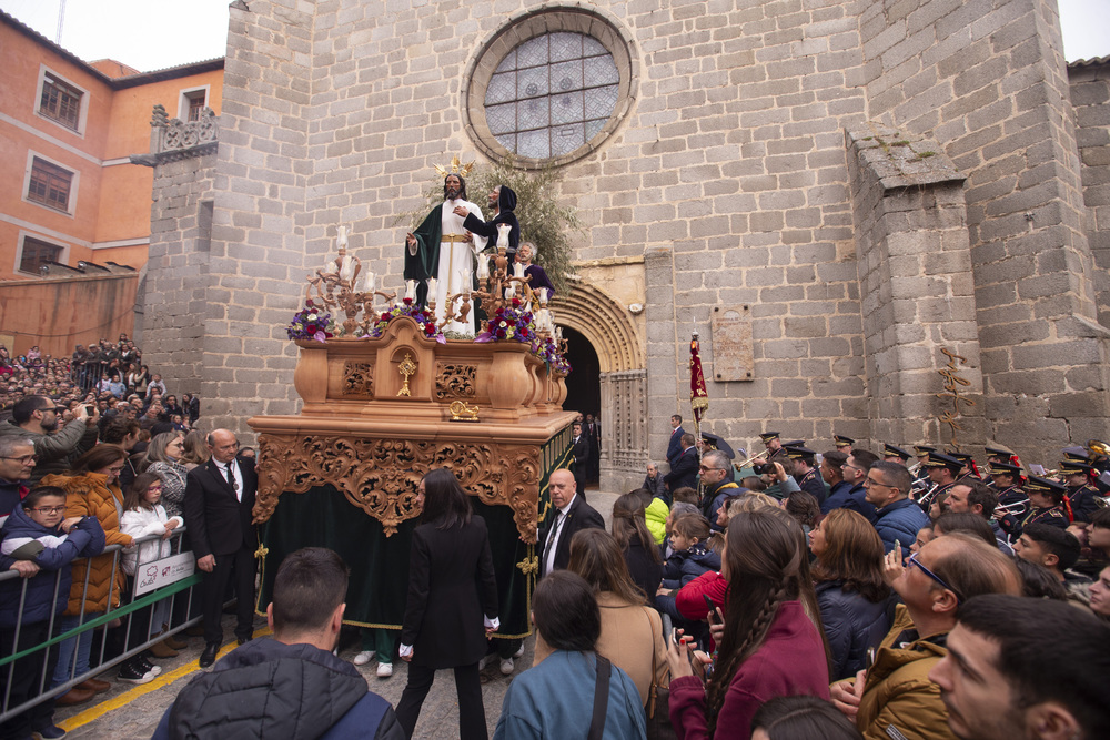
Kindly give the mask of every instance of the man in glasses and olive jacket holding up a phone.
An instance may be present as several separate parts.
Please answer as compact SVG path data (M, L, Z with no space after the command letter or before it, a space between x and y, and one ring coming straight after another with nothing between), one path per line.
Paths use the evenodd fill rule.
M0 435L28 437L34 444L37 464L31 473L32 488L50 473L64 473L70 463L97 444L100 413L78 406L77 417L59 429L64 410L47 396L28 396L11 409L11 420L0 424Z

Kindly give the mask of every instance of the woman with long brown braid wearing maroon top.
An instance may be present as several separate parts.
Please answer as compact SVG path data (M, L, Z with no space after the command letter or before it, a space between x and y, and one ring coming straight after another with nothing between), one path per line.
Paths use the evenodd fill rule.
M684 740L747 740L768 700L829 698L825 645L807 616L817 614L817 604L801 527L775 509L731 518L722 576L729 581L725 630L708 686L693 675L685 643L672 642L667 655L670 721Z

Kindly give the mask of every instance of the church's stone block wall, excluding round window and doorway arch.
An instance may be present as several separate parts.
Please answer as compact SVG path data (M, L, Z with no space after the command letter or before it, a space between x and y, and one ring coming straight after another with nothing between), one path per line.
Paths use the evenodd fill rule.
M295 408L284 324L303 276L334 254L337 225L352 230L364 268L401 285L408 224L397 216L423 203L432 164L480 150L463 115L463 75L509 20L556 7L233 3L200 342L202 394L218 418L243 429L252 414ZM834 430L919 442L909 438L916 428L885 418L877 394L940 392L945 361L932 348L948 342L971 347L978 364L985 423L967 442L997 438L1037 459L1046 445L1099 436L1110 378L1096 323L1104 283L1092 272L1104 244L1086 215L1099 191L1081 187L1050 0L567 7L616 29L635 62L627 114L597 151L565 166L562 197L586 223L576 257L593 290L627 307L639 282L623 281L644 259L647 377L624 385L646 384L650 456L666 448L667 417L688 416L690 332L712 365L712 311L741 305L754 378L707 373L709 428L738 446L771 425L818 447ZM966 186L899 193L895 207L871 183L854 201L862 176L850 172L858 153L846 132L869 124L935 141ZM1098 176L1090 166L1083 174ZM484 203L484 193L470 199ZM915 280L894 254L872 256L911 237L950 245L951 260L937 268L939 257L917 254L936 273ZM888 273L907 308L878 326L868 313ZM909 311L914 302L922 307ZM929 343L886 355L890 366L870 356L874 337L894 334L885 348L914 344L905 333L918 322L929 324ZM888 374L898 383L884 385ZM634 409L616 397L624 385L605 397ZM904 412L925 409L909 401ZM604 426L613 409L601 410ZM606 457L635 450L618 452Z

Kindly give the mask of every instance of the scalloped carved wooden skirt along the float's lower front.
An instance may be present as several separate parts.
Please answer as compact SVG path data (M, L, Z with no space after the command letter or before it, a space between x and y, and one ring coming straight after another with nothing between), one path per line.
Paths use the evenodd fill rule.
M423 475L447 467L483 504L512 508L521 539L536 541L543 473L538 446L263 434L259 447L255 523L273 515L283 491L303 494L332 485L391 536L402 521L420 515L416 486Z

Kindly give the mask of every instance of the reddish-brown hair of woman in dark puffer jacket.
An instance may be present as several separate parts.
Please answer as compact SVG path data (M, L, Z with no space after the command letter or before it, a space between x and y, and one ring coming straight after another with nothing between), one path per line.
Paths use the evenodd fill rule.
M817 556L814 580L841 580L844 590L872 604L890 596L882 580L882 540L871 523L857 511L833 509L821 526L825 551Z

